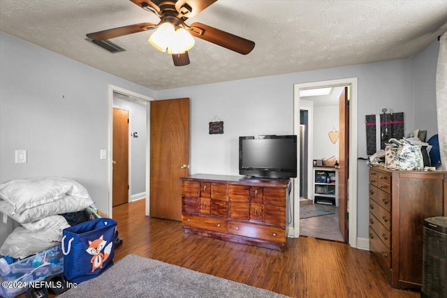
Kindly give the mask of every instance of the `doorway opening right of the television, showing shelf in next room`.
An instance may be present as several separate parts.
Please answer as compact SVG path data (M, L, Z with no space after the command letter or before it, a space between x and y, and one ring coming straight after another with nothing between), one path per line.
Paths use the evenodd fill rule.
M339 123L343 121L339 98L343 93L344 86L300 91L299 161L300 235L342 242L338 161ZM309 128L312 134L307 133Z

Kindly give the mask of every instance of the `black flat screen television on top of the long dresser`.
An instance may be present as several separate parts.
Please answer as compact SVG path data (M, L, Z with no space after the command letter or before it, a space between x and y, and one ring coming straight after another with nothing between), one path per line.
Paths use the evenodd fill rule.
M239 174L286 179L297 173L296 135L239 137Z

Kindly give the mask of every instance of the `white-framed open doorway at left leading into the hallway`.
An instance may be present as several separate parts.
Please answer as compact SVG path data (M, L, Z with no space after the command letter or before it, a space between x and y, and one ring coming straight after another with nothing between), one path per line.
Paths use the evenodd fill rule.
M114 192L117 189L125 188L122 192L122 198L119 204L132 202L134 200L145 200L145 214L149 215L149 101L153 98L136 94L135 92L110 86L109 102L110 102L110 126L109 126L109 210L112 216L113 207L117 205L114 198ZM114 134L114 111L122 110L128 114L129 128L122 133L122 138L128 141L122 142ZM125 135L126 134L126 135ZM128 175L123 179L114 173L119 160L125 160L126 156L119 156L122 152L117 152L117 144L124 144L127 147L124 152L128 156L126 167ZM118 146L119 148L119 146ZM115 164L114 164L115 163ZM115 171L116 172L116 171ZM116 184L123 184L117 185ZM116 197L116 195L115 195Z

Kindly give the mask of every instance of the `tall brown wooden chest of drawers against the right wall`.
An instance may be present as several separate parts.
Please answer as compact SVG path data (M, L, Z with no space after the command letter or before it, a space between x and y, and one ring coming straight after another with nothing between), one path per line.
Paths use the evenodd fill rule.
M423 221L447 214L447 173L369 170L369 251L393 288L420 290Z

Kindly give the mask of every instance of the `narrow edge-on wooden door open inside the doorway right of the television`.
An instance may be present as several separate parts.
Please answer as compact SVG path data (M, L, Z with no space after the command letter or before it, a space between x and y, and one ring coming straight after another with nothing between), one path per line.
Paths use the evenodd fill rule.
M349 178L349 98L348 87L339 97L339 226L348 241L348 178Z

